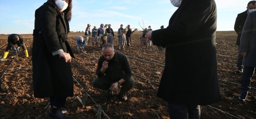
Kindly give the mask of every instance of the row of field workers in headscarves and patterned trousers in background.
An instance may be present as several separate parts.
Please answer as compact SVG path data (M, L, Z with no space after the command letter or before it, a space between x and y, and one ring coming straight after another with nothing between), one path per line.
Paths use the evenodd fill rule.
M100 28L96 28L96 26L93 27L92 30L90 30L91 25L88 24L87 28L85 30L85 37L78 36L76 38L77 42L77 49L83 51L84 47L89 44L90 42L90 37L92 46L97 47L98 46L98 41L100 42L100 46L102 47L103 44L105 43L111 43L113 44L113 40L115 39L115 34L113 29L111 28L111 24L103 24L100 25ZM164 28L164 26L160 27L161 29ZM151 31L151 26L145 28L144 30L146 31ZM92 31L92 35L91 35ZM118 36L118 49L125 49L125 44L127 44L127 48L130 48L131 46L131 36L133 34L132 29L130 28L130 25L127 25L127 30L123 28L123 25L120 25L120 28L117 30L117 36ZM94 45L95 44L95 45ZM145 32L142 32L140 35L140 48L143 48L145 46L148 48L148 46L152 45L152 41L150 41L148 38L145 38ZM161 46L157 46L159 51L162 51Z

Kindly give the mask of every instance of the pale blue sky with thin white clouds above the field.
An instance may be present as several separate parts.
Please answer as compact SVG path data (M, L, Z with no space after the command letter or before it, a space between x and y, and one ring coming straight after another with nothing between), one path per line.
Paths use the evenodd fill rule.
M0 34L32 34L35 10L47 0L0 0ZM237 14L246 10L251 0L215 0L217 31L234 30ZM200 7L200 6L199 6ZM100 27L111 24L117 31L120 24L131 28L149 25L153 30L168 26L177 10L170 0L73 0L70 31L85 31L87 24Z

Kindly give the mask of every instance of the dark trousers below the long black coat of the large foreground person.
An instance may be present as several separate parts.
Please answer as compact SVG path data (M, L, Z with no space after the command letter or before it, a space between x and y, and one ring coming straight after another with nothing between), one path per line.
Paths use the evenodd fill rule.
M199 105L168 104L170 119L200 119Z

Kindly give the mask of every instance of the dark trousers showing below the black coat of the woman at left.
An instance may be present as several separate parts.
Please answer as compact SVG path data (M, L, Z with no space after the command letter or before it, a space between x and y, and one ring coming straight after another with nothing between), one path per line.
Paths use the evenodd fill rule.
M64 107L67 97L50 97L50 105L57 108Z

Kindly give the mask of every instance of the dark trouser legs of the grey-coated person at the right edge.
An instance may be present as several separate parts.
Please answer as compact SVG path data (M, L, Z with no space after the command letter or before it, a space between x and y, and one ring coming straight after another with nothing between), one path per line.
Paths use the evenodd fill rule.
M246 98L248 91L251 89L251 80L254 74L255 67L247 67L244 66L242 78L241 78L241 90L240 96L241 98Z

